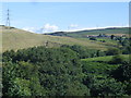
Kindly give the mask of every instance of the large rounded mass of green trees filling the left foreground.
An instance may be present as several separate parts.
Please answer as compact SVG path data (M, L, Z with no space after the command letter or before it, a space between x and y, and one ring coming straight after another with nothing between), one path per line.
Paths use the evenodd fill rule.
M3 61L3 95L90 95L88 88L81 83L81 61L69 48L37 47L11 53L7 51Z

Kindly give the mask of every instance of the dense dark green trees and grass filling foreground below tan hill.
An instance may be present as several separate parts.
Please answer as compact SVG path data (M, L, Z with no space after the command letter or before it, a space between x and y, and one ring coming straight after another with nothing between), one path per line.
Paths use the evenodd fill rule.
M109 51L81 46L5 51L3 96L130 96L129 58Z

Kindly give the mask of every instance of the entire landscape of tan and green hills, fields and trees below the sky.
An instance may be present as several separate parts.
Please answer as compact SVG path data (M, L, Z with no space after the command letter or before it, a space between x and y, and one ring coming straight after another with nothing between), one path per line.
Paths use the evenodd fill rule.
M128 33L107 28L56 37L3 27L3 51L10 50L0 68L3 96L131 96Z

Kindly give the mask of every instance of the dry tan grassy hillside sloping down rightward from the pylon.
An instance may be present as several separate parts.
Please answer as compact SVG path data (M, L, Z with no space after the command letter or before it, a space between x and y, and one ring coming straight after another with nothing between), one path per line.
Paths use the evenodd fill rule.
M81 45L96 49L106 49L107 47L110 47L100 42L81 40L71 37L34 34L14 27L8 29L5 26L0 26L0 30L1 30L0 34L2 34L2 51L11 49L17 50L45 45L47 45L48 47L60 45Z

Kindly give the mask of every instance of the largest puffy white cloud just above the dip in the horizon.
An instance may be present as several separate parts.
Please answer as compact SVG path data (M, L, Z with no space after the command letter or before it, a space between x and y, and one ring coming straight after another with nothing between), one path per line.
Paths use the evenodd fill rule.
M43 27L43 33L52 33L58 30L59 30L59 27L57 25L46 24Z

